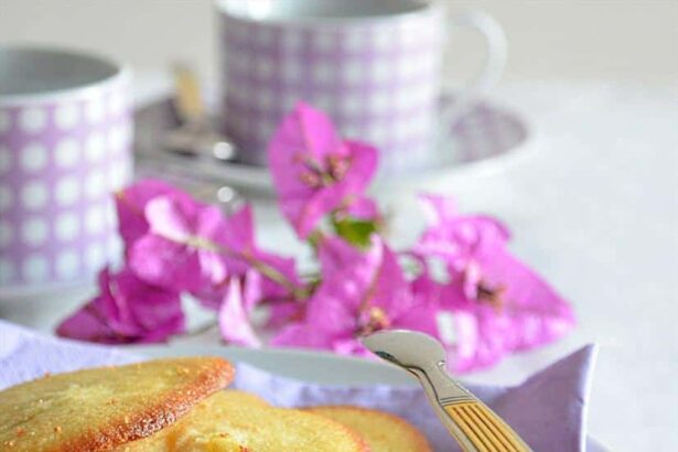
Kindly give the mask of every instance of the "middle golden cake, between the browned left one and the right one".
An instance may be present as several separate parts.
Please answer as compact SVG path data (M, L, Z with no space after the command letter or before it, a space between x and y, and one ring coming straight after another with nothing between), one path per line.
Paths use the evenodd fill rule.
M256 397L256 396L255 396ZM237 391L219 391L154 435L122 452L368 452L345 426L308 411L276 408Z

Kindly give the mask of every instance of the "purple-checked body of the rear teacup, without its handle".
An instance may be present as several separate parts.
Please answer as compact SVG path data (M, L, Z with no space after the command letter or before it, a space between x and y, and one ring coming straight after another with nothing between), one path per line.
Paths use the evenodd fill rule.
M257 22L223 17L225 131L265 163L286 112L304 100L345 137L376 144L381 169L428 161L440 95L438 10L379 20Z

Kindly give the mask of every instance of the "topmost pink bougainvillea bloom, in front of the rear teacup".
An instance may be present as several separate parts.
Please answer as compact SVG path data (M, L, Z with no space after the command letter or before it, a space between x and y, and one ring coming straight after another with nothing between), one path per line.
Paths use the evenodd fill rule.
M324 114L302 103L280 125L268 158L282 213L301 238L326 214L363 200L377 168L375 148L343 141Z

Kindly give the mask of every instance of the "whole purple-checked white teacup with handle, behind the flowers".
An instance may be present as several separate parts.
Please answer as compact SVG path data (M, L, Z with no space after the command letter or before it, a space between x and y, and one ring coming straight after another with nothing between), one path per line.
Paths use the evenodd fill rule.
M454 23L423 0L220 0L223 126L247 163L265 164L276 126L297 101L326 111L341 132L376 144L388 173L431 164L454 121L498 79L501 26L481 12ZM467 25L486 39L476 79L442 108L448 35ZM449 127L448 127L449 130Z

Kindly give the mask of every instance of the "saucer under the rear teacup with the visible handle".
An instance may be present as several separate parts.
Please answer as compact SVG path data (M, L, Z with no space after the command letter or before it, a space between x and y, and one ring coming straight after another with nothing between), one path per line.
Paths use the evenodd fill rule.
M137 155L144 174L174 174L207 179L238 189L272 193L270 172L265 166L237 162L217 162L214 159L191 159L162 150L159 137L175 127L168 100L149 105L137 115ZM440 182L459 175L486 174L502 171L523 154L531 142L531 130L526 120L509 108L484 101L471 109L455 125L448 126L451 133L441 130L441 140L430 163L419 170L397 176L377 176L374 190L394 187L431 189Z

